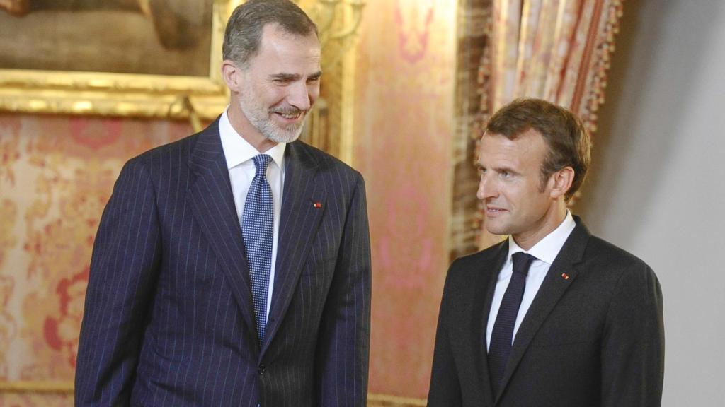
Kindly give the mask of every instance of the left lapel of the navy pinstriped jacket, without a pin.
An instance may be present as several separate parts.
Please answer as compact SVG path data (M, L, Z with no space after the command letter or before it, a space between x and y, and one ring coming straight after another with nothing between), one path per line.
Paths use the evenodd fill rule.
M225 272L247 326L256 337L249 269L219 138L218 119L199 133L191 151L189 167L191 186L187 200L191 202L194 217ZM257 343L257 340L250 342Z

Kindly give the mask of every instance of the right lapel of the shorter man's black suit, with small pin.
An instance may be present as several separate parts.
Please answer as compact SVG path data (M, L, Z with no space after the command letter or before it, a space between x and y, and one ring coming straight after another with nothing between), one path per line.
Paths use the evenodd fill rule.
M526 316L521 322L521 327L516 332L513 348L511 348L511 354L501 380L501 391L496 398L497 403L523 354L526 353L526 348L529 348L531 340L534 339L534 335L536 335L556 303L579 274L574 265L579 263L582 256L584 256L584 249L587 247L590 235L587 227L581 224L579 217L575 216L574 219L576 220L576 227L569 235L566 243L564 243L558 256L556 256L549 272L544 277L539 292L534 297L534 302L531 303L529 311L526 312ZM563 273L568 274L568 278L562 278Z

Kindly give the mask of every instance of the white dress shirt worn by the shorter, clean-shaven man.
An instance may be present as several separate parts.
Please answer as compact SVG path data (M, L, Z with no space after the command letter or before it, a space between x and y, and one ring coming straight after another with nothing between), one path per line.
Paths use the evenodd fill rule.
M526 311L529 311L531 303L534 301L539 292L539 288L544 282L547 272L551 264L556 259L562 246L566 242L566 239L571 234L571 231L576 227L576 222L571 216L571 212L566 211L566 217L564 218L561 225L559 225L553 232L544 236L542 240L539 240L529 251L523 250L516 244L511 236L508 237L508 257L506 262L503 264L501 272L499 272L498 280L496 282L496 290L494 291L494 299L491 303L491 311L489 311L489 321L486 324L486 349L491 346L491 334L494 330L494 323L496 322L496 316L501 306L503 295L508 288L508 282L511 280L511 274L513 274L513 261L511 255L523 251L529 253L531 256L537 258L531 262L529 267L529 274L526 275L526 287L523 290L523 298L521 298L521 306L518 308L518 314L516 315L516 322L513 325L513 336L511 337L511 343L516 337L518 327L521 326L523 317L526 316Z

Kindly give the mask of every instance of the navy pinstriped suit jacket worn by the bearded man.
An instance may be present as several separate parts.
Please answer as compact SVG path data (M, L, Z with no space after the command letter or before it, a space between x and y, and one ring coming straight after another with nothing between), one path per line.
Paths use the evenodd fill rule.
M125 164L94 244L76 406L365 405L363 177L299 141L285 154L261 348L217 122Z

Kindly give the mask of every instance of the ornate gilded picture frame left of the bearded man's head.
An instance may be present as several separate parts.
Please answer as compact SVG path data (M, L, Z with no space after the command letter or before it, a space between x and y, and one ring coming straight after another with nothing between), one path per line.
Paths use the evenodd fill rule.
M225 22L242 2L212 1L207 76L0 69L0 111L213 119L228 103L220 74Z

